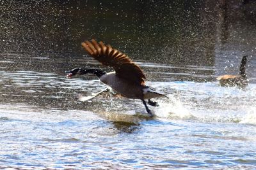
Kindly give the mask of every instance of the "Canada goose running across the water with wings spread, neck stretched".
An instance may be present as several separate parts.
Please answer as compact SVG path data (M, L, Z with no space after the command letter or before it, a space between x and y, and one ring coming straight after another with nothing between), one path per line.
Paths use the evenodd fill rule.
M94 59L101 62L104 66L113 67L115 71L106 73L100 69L75 68L72 69L72 71L67 71L67 78L76 74L95 74L102 83L108 85L121 96L130 99L140 99L143 102L147 113L152 117L152 112L148 109L145 99L148 99L148 104L151 106L157 106L157 103L150 101L150 99L166 96L159 94L145 85L145 75L140 67L132 62L127 55L112 48L110 45L104 45L102 41L97 43L95 39L92 39L92 42L84 41L82 46ZM95 96L98 96L106 90L108 89L102 90L95 94ZM85 97L82 100L92 99L95 96Z

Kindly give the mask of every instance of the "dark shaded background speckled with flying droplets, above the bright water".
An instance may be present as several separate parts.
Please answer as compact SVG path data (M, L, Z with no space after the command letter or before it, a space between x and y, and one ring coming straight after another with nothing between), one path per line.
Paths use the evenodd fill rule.
M134 60L179 66L224 70L230 66L227 60L239 66L242 55L255 55L255 1L2 0L0 4L1 57L26 53L70 62L84 55L81 42L92 38Z

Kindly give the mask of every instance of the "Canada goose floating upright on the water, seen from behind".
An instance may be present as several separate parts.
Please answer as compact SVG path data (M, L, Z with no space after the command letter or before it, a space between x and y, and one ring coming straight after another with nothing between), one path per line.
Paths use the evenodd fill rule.
M217 80L219 80L220 85L228 87L245 87L246 85L248 85L247 75L245 71L246 61L247 55L244 55L240 64L239 75L226 74L223 76L218 76Z

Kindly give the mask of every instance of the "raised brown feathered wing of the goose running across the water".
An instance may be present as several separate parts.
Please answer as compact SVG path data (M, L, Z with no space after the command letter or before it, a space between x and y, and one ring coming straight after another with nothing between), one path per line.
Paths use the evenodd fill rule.
M131 83L144 84L145 75L140 67L132 62L131 59L125 54L121 53L110 45L104 45L102 41L97 43L95 39L84 41L82 46L86 52L104 66L114 67L116 76L123 78Z

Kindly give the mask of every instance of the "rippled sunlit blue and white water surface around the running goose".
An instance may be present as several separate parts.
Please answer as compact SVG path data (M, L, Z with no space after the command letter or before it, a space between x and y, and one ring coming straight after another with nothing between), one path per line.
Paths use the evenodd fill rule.
M12 53L2 57L0 168L256 166L253 83L244 90L225 88L218 85L215 75L204 74L214 72L212 67L138 62L148 76L147 84L169 97L156 99L160 106L150 106L156 117L149 118L139 100L104 94L92 101L77 101L76 94L89 96L105 88L95 76L65 78L64 71L73 66L93 66L91 59L74 60L63 67L58 67L63 61L54 60L56 67L52 69L52 60L47 57L24 55L19 61ZM41 67L35 67L38 61ZM34 69L29 69L29 65ZM183 81L184 77L212 81Z

